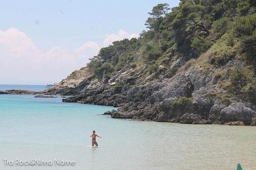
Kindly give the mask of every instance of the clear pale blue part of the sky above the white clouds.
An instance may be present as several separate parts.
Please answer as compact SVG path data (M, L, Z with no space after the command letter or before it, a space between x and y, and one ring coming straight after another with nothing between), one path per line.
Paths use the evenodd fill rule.
M120 29L129 34L139 34L145 29L144 23L149 17L147 12L158 3L168 3L170 7L175 7L178 6L179 1L1 1L0 31L3 33L9 28L16 28L26 34L36 48L43 52L56 46L73 50L90 41L103 47L106 34L117 34ZM0 50L1 46L3 45L0 44ZM0 57L3 57L4 54L2 56L1 54L0 51ZM78 69L77 67L80 66L74 68ZM70 72L74 68L67 70ZM9 77L16 79L13 75ZM65 77L63 75L52 77L52 81L53 79L59 81L62 78ZM29 75L23 79L33 83ZM0 81L0 83L4 82Z

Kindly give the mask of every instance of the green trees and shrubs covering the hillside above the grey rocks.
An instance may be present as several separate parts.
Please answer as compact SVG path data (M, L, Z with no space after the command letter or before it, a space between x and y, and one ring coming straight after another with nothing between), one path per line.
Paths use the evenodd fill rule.
M160 72L160 66L170 68L182 58L186 64L180 71L192 66L220 70L215 73L218 83L228 93L216 97L225 103L233 94L255 103L255 1L181 0L172 9L166 3L157 4L145 25L147 31L142 31L139 38L116 41L100 49L87 68L99 79L113 76L124 67L136 72L143 69L144 78L149 74L157 78L160 73L171 77L179 68ZM243 64L238 66L235 61ZM121 88L117 85L115 91ZM179 102L186 99L173 104Z

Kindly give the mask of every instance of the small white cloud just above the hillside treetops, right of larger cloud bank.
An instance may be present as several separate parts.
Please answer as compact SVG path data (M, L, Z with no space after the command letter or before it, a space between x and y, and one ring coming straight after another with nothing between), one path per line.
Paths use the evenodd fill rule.
M129 34L124 30L120 29L117 34L107 34L103 43L105 46L109 46L114 41L118 41L125 38L131 39L131 38L137 38L137 37L139 37L139 34L136 34L136 33Z

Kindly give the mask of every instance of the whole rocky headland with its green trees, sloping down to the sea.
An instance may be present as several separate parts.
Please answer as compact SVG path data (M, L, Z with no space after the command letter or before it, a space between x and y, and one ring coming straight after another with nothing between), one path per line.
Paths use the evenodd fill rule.
M235 11L211 3L183 1L166 16L156 11L168 5L157 5L139 39L102 48L43 93L71 96L63 102L118 106L113 118L255 126L255 4L248 1L241 14L240 2ZM213 17L217 7L222 11ZM204 12L196 13L199 8Z

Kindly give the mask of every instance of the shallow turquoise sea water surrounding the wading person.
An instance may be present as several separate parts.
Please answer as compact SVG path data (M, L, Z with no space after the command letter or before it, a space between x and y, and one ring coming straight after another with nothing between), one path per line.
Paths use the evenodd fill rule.
M0 95L0 169L256 169L256 128L141 122L101 115L112 107L62 98ZM91 146L91 131L102 138ZM74 160L75 166L4 166Z

